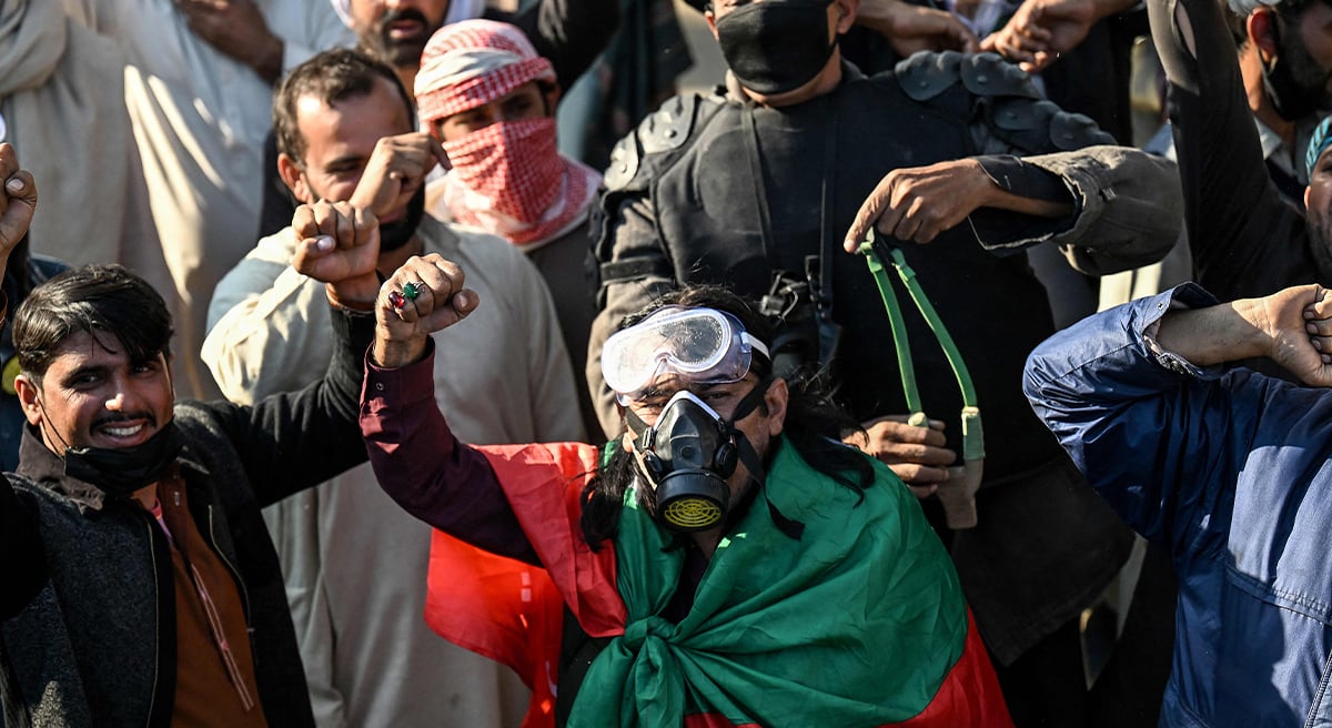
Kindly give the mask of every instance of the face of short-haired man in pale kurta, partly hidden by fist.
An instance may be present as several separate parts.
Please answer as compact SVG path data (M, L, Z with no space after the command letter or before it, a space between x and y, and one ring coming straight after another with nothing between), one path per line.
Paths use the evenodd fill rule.
M388 79L377 79L370 93L342 98L332 106L313 96L298 98L296 125L305 140L305 158L293 170L300 178L288 185L306 204L349 200L374 153L374 145L384 137L413 130L406 104ZM381 224L405 216L406 200L420 184L409 188L402 190L398 208L380 216Z

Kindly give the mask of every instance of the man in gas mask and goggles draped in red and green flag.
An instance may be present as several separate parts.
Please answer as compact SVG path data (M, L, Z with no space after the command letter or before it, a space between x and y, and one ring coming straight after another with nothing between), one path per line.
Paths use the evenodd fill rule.
M430 397L429 334L477 305L464 285L429 256L384 286L361 426L404 508L514 559L484 578L433 563L426 618L518 669L535 713L1011 725L919 504L836 439L840 410L774 377L771 333L739 298L686 287L610 337L627 429L605 447L474 447Z

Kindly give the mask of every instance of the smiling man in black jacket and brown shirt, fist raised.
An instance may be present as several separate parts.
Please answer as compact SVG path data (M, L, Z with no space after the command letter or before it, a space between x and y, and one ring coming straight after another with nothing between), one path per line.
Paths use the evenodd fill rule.
M0 257L36 202L16 169L0 145ZM293 225L309 250L377 234L345 204L302 206ZM19 307L28 427L0 480L7 723L313 725L260 508L365 459L373 317L340 290L325 377L253 407L174 401L170 314L123 268L69 270Z

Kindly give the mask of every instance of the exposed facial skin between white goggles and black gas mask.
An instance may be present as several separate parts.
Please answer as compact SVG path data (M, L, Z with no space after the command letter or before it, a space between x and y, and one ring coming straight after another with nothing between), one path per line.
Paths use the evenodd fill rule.
M657 418L661 417L662 409L667 402L670 402L670 398L674 397L681 389L689 389L690 393L702 399L709 407L721 415L723 421L730 421L731 415L735 414L735 407L741 403L741 399L743 399L750 390L758 386L758 375L750 371L738 382L719 385L690 383L682 387L682 382L675 375L667 375L658 379L653 386L643 390L642 394L631 401L629 403L629 410L651 427L657 423ZM763 395L763 405L755 407L750 414L735 422L735 429L739 430L746 439L749 439L751 446L754 446L754 453L758 454L759 460L767 456L773 439L782 434L782 429L786 422L787 398L789 391L786 381L774 379L769 386L767 393ZM627 439L625 446L633 447ZM742 462L741 466L735 468L735 472L726 480L727 487L730 487L733 500L739 498L747 482L749 470Z

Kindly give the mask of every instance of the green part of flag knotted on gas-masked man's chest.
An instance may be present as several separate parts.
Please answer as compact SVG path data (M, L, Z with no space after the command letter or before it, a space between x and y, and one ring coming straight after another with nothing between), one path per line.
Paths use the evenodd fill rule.
M963 653L958 578L915 496L875 462L863 500L785 439L765 492L718 546L679 623L658 616L685 552L626 495L615 540L625 634L587 672L570 727L882 725L920 713ZM765 495L805 524L773 523Z

